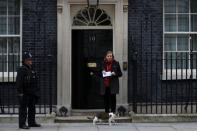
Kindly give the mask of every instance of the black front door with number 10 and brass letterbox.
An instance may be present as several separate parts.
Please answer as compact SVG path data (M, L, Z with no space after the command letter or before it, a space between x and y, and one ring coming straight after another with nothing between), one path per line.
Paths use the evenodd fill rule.
M100 95L101 62L112 50L112 30L72 31L72 108L104 108Z

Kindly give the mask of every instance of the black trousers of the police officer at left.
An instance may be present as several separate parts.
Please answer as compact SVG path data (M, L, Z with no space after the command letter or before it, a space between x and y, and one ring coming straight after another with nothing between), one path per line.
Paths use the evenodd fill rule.
M35 123L35 97L32 95L19 96L19 127L26 123L28 117L28 124ZM27 113L28 109L28 113ZM27 116L28 114L28 116Z

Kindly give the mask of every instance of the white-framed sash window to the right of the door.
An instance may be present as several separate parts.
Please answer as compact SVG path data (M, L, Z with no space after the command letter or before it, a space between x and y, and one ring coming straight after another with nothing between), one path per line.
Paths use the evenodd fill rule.
M164 0L164 69L197 67L197 0Z

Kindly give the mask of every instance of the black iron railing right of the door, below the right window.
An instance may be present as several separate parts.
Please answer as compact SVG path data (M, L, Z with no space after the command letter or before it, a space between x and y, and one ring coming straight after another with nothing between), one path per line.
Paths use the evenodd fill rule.
M134 112L197 112L197 53L190 58L175 54L165 58L162 53L145 53L133 62Z

